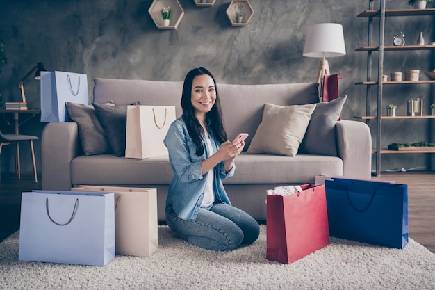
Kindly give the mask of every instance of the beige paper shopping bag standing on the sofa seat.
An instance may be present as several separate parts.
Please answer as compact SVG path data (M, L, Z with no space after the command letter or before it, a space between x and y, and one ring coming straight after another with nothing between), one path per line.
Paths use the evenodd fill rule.
M126 158L144 159L167 155L163 139L174 120L174 106L129 106L127 109Z

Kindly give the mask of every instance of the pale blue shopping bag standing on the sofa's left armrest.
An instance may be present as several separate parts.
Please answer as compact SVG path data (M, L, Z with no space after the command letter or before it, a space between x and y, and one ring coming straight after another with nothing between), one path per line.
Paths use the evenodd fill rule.
M65 102L89 104L88 76L41 72L41 122L69 121Z

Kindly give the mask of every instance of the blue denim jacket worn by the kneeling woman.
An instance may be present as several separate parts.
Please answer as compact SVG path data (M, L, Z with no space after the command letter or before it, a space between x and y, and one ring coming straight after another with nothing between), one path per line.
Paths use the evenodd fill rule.
M216 143L215 136L210 127L208 127L208 133L213 150L217 152L220 144ZM202 136L202 139L205 144L205 136ZM169 185L166 207L172 204L172 209L174 209L179 218L183 220L195 220L201 207L202 198L204 198L206 177L208 175L208 172L202 175L201 169L201 162L208 155L206 146L204 154L197 156L197 147L193 143L192 138L190 138L186 123L182 118L178 118L170 125L164 143L169 152L172 170L174 170L174 176ZM225 172L224 161L222 161L213 170L215 170L213 190L215 191L216 201L231 204L222 184L222 179L232 176L235 166L229 172Z

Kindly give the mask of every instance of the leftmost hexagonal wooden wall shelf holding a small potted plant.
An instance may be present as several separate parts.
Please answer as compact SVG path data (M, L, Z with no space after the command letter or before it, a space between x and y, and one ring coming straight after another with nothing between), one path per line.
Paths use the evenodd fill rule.
M171 8L170 24L165 26L163 24L163 17L161 9L169 6ZM149 15L156 24L158 29L177 29L181 19L184 16L184 10L178 0L154 0L148 10Z

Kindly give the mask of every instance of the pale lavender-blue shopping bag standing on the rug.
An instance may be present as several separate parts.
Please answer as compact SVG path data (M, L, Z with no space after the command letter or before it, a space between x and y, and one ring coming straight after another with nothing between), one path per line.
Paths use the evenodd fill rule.
M19 260L104 266L115 258L113 193L22 193Z

